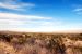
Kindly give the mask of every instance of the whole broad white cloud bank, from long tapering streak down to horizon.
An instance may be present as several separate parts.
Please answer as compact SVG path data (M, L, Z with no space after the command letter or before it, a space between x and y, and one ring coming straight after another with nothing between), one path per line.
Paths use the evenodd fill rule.
M80 29L81 25L65 24L52 17L0 13L0 30L51 32Z

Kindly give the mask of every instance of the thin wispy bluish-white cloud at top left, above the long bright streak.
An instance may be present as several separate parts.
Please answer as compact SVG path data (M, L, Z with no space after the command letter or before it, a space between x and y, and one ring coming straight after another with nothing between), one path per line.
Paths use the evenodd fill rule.
M13 2L9 2L9 1L0 2L0 8L9 9L9 10L24 11L25 10L24 8L32 8L32 6L35 6L35 4L33 4L33 3L16 3L16 4L13 4Z

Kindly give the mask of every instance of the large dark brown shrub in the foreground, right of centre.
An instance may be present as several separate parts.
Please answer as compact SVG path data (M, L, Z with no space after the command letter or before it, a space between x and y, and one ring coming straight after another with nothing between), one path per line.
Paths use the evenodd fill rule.
M61 38L60 37L52 37L50 40L49 40L49 43L47 44L47 49L50 50L50 52L54 52L54 54L58 54L58 53L61 53L61 54L65 54L65 44L61 43Z

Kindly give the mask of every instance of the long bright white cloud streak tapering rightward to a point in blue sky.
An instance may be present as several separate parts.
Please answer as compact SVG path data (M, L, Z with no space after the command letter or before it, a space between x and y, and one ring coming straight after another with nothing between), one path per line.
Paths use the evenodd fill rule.
M51 19L52 17L42 17L34 15L20 15L12 13L0 13L0 18L4 19Z

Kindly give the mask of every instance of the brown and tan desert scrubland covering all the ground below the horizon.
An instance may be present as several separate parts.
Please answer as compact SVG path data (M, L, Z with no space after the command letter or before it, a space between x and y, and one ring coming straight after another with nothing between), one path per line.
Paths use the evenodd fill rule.
M0 32L0 54L82 54L82 33Z

